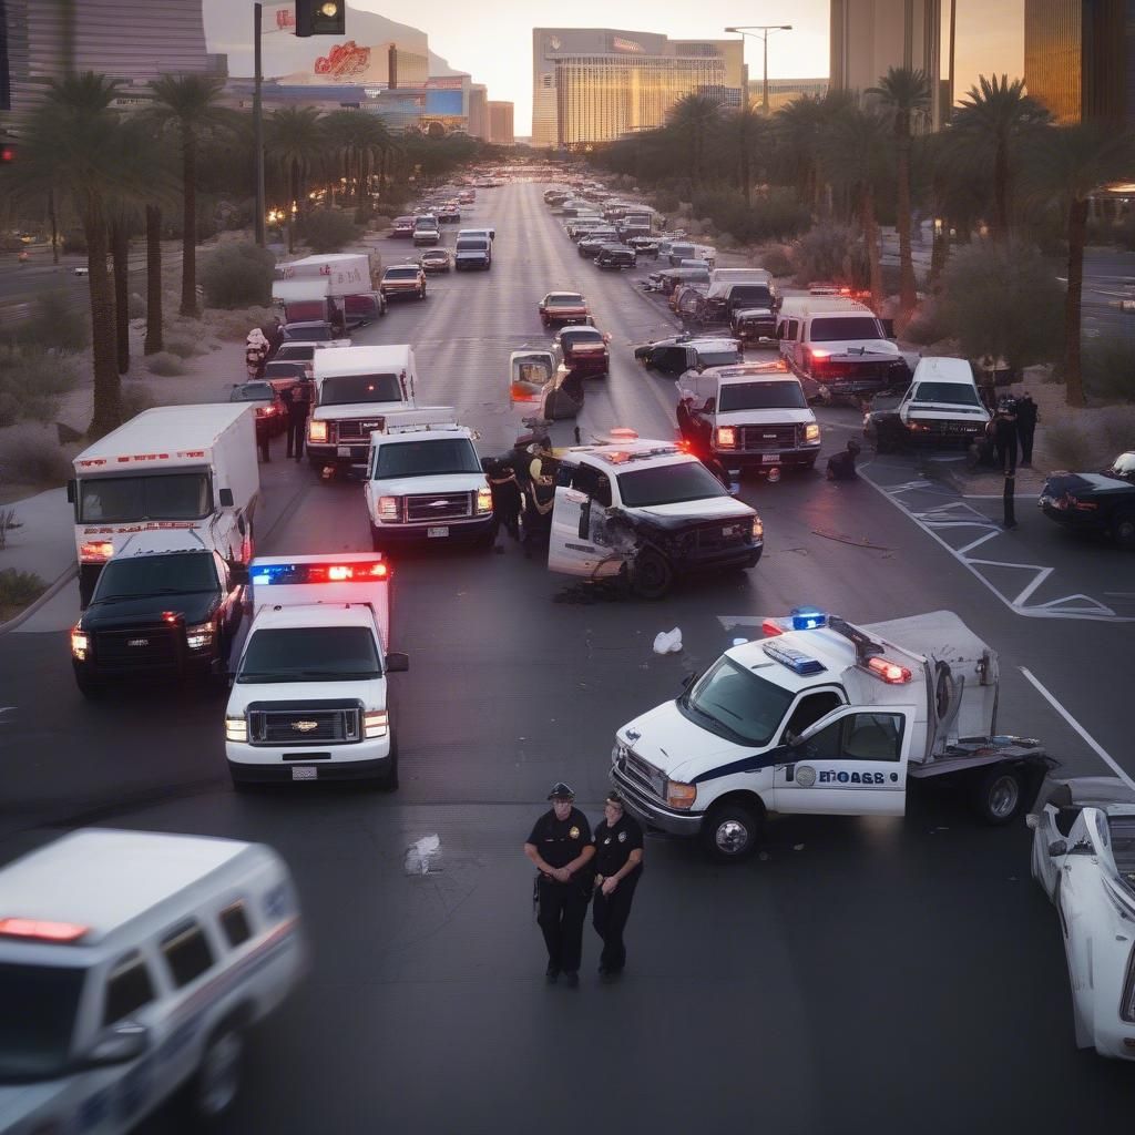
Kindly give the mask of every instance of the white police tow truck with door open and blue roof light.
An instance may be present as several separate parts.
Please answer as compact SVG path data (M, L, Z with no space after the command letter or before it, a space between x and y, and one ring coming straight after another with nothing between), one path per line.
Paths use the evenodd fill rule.
M617 731L612 779L649 829L735 860L771 813L905 815L911 780L960 780L1004 824L1052 764L997 734L997 655L952 612L854 627L799 608L763 630Z

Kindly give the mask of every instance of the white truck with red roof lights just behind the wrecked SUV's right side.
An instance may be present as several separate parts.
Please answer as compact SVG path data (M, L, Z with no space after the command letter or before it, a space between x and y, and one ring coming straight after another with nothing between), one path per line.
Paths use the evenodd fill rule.
M730 469L812 469L819 426L800 380L781 360L687 371L675 384L691 442ZM679 414L679 424L682 421Z

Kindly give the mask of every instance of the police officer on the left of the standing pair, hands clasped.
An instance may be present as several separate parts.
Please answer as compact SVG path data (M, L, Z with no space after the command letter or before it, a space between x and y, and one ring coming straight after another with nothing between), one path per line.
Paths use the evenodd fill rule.
M583 948L583 919L591 894L591 825L574 807L575 793L562 781L548 793L552 801L532 827L524 855L536 864L537 922L548 948L546 976L554 985L560 975L579 984Z

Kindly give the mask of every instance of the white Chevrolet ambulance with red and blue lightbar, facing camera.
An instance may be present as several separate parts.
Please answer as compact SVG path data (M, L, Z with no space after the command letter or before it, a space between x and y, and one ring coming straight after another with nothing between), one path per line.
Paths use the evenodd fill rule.
M249 570L252 627L225 711L233 783L373 780L398 787L386 675L390 565L376 553L271 556Z

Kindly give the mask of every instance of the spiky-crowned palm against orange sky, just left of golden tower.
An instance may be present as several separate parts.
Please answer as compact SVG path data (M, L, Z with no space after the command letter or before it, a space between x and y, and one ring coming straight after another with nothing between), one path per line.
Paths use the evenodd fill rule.
M1007 75L991 79L982 75L977 82L955 110L950 136L959 157L992 166L993 234L1006 241L1022 143L1051 116L1025 94L1024 79L1010 83Z

